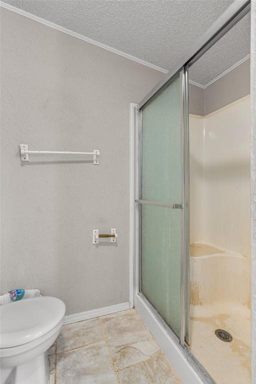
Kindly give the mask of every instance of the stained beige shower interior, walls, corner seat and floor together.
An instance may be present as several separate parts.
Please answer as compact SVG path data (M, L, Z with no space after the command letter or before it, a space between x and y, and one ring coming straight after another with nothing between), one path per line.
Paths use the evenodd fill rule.
M215 382L248 383L249 95L210 114L190 114L189 139L190 350ZM231 333L230 346L215 337L218 328Z

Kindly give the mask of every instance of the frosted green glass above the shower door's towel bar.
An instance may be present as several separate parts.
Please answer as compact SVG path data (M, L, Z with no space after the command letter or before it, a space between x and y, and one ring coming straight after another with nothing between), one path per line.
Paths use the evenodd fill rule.
M180 79L142 109L141 198L180 202Z

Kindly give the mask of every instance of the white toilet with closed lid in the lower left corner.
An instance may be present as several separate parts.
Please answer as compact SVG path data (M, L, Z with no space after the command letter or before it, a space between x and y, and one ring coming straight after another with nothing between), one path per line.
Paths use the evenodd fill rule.
M33 297L0 306L0 383L48 384L47 349L57 338L65 304Z

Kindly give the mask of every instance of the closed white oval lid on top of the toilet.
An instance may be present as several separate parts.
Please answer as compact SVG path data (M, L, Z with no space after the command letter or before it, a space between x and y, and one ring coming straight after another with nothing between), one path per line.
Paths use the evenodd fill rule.
M65 314L56 297L32 297L0 305L0 348L32 341L54 328Z

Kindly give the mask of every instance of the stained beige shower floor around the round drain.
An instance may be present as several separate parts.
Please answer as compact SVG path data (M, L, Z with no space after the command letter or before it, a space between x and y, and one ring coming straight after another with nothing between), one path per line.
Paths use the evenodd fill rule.
M231 333L231 342L223 342L215 329ZM190 350L217 384L250 383L249 313L212 314L190 318ZM242 339L241 339L242 338Z

